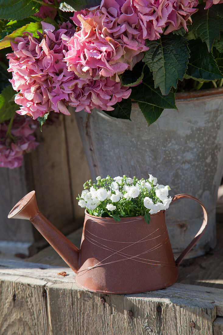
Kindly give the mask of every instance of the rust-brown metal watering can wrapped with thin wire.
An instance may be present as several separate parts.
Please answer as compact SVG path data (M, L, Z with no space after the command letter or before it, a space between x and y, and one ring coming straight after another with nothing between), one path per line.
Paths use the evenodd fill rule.
M165 211L151 215L148 225L143 216L113 218L92 216L85 211L80 250L75 247L42 213L35 191L24 196L10 211L8 218L29 220L69 267L76 272L78 286L101 293L137 293L172 285L178 277L178 265L202 237L208 214L202 203L204 220L200 230L174 260L165 224Z

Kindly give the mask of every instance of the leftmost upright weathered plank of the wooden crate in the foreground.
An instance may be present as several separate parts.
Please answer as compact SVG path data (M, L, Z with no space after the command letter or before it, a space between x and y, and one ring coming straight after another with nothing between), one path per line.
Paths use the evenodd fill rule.
M0 334L47 335L46 282L0 274Z

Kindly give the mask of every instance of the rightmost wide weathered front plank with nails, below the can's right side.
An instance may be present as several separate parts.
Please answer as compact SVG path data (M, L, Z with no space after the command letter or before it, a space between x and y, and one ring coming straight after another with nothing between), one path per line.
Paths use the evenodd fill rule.
M173 297L151 298L150 293L111 295L113 334L213 334L213 304Z

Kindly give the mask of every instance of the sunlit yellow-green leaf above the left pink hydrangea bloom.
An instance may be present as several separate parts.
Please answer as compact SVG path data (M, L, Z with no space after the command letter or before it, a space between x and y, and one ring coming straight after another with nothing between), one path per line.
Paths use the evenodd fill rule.
M42 24L40 22L30 22L25 26L16 29L12 34L6 35L2 41L0 41L0 49L4 49L10 47L10 42L14 42L16 37L20 37L23 35L23 32L31 32L33 33L33 37L38 37L36 30L42 32Z

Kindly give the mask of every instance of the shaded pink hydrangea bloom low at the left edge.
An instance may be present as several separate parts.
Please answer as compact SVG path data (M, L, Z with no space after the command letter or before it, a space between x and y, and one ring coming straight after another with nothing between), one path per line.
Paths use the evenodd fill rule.
M13 169L22 165L23 154L35 149L39 145L31 134L35 131L37 124L30 118L21 116L14 117L11 135L6 138L9 121L0 124L0 167Z

